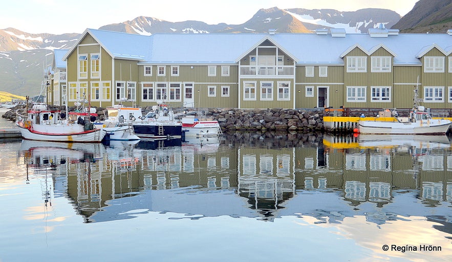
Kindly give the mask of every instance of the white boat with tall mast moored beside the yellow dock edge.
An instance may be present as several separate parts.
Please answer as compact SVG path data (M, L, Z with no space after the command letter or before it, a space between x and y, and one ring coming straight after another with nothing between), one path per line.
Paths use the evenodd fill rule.
M373 120L366 117L358 121L358 132L360 134L446 134L452 122L445 118L433 118L429 110L425 110L424 106L419 105L419 102L423 102L423 100L418 99L417 86L414 90L414 103L409 116L399 116L396 109L384 109L377 117L373 117Z

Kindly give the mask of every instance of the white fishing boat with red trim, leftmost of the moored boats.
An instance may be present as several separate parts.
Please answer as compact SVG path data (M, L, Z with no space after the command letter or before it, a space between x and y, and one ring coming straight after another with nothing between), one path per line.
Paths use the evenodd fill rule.
M28 103L27 103L28 104ZM24 139L57 142L100 142L105 131L96 128L89 117L69 120L67 111L34 104L25 112L16 111L16 126Z

